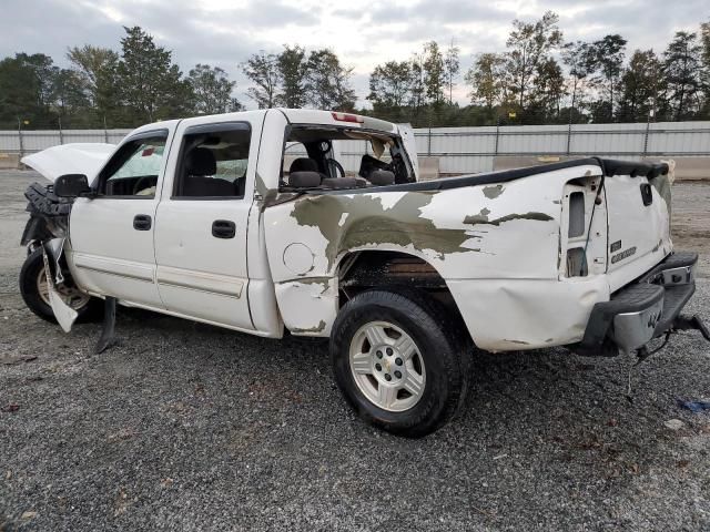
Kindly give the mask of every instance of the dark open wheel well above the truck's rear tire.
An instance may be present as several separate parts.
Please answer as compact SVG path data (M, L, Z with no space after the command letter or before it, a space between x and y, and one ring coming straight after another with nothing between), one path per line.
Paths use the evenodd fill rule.
M373 288L393 291L415 289L439 301L453 321L467 330L446 282L434 266L420 257L400 252L353 252L343 257L337 275L341 306Z

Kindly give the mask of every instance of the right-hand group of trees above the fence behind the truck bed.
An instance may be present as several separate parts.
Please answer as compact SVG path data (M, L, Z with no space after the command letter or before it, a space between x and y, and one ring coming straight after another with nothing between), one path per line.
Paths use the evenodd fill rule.
M621 35L565 42L558 23L551 11L513 21L506 50L477 54L464 73L467 106L450 98L458 48L434 41L377 65L367 99L376 114L418 125L710 120L710 22L677 32L660 55L633 50L628 60Z

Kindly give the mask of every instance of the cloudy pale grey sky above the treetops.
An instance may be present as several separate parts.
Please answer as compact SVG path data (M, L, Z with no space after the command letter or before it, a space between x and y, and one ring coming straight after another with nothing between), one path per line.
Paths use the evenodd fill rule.
M221 66L236 80L247 108L248 81L240 63L283 44L331 48L353 68L364 105L368 74L388 60L406 60L423 43L452 39L460 48L462 75L476 53L503 51L514 19L560 16L567 41L620 33L629 51L662 52L673 33L710 20L708 0L0 0L0 58L45 53L68 66L67 49L93 44L119 49L123 25L140 25L187 72L196 63ZM459 83L455 99L466 103Z

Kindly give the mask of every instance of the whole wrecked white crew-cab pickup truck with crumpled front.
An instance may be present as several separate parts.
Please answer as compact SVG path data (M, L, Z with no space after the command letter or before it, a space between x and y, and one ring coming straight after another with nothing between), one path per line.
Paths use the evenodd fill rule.
M463 403L474 348L645 357L679 329L667 163L604 158L418 181L413 132L265 110L160 122L24 157L20 286L69 331L115 304L267 338L329 338L335 380L404 436ZM101 301L103 299L103 301ZM710 339L710 338L709 338Z

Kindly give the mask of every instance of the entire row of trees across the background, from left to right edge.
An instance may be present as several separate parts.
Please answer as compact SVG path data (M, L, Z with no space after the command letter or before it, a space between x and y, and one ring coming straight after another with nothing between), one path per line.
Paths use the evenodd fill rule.
M184 74L146 31L124 30L118 51L69 48L67 69L42 53L1 60L0 127L132 127L243 109L224 70L196 64ZM677 32L660 54L629 54L627 44L619 34L565 42L548 11L514 20L505 51L478 53L466 72L454 40L376 65L361 110L353 70L329 49L284 45L239 66L260 109L358 111L415 126L710 120L710 22Z

